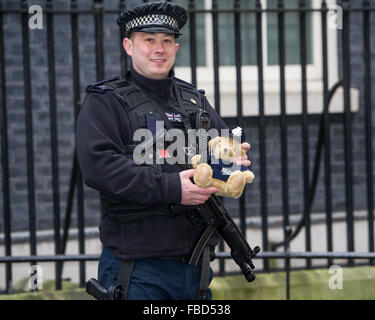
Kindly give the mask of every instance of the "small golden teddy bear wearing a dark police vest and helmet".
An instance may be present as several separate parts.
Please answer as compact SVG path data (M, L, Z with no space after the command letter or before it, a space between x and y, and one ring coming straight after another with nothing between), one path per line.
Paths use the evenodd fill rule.
M201 155L192 157L192 166L195 169L194 183L199 187L216 187L220 191L218 196L239 198L245 185L254 179L254 173L245 166L236 165L231 159L245 155L241 147L241 140L234 135L242 135L242 129L231 129L229 136L217 136L208 142L208 163L201 163Z

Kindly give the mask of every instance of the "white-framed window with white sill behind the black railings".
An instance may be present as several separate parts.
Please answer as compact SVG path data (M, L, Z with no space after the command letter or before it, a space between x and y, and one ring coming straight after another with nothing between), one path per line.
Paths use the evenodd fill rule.
M188 8L188 0L177 0L178 4ZM277 8L277 0L262 0L262 8ZM328 5L334 4L328 1ZM219 9L233 9L233 1L218 0ZM320 0L307 0L309 8L320 8ZM211 10L211 0L195 1L197 9ZM284 1L286 9L298 8L298 0ZM240 7L254 9L255 0L241 0ZM301 66L299 41L299 13L286 12L285 21L285 59L286 59L286 103L288 114L301 113ZM278 53L278 25L277 13L267 12L262 15L263 31L263 64L265 113L279 114L279 53ZM241 13L241 58L242 58L242 97L243 114L258 114L258 69L256 57L256 14L255 12ZM234 13L221 12L218 14L219 35L219 80L220 105L222 116L236 116L236 69L235 69L235 36ZM190 80L190 39L188 24L184 29L184 36L179 38L180 51L176 59L176 75ZM337 30L328 29L329 56L329 85L338 79L337 71ZM308 12L306 15L306 44L307 44L307 78L308 78L308 111L322 112L322 44L321 44L321 13ZM212 14L196 14L197 35L197 81L198 87L206 90L207 96L214 105L214 72L213 72L213 28ZM358 92L353 89L352 108L357 108ZM342 94L338 90L333 99L331 112L342 111Z

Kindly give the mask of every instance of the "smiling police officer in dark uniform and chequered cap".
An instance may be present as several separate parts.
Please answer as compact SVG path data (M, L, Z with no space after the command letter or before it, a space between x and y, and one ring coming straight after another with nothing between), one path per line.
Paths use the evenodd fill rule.
M198 293L211 298L212 270L203 268L203 258L199 266L188 261L205 227L192 206L218 189L193 184L193 169L139 165L133 159L134 132L147 128L155 133L156 120L186 133L195 129L196 115L204 108L212 128L227 128L200 91L174 76L176 39L186 21L185 9L169 2L123 11L117 23L132 58L130 70L125 79L88 86L77 122L82 174L101 195L98 280L106 288L122 284L127 299L196 299ZM153 156L171 156L160 151ZM247 157L237 160L250 165ZM207 248L212 251L217 243L214 236Z

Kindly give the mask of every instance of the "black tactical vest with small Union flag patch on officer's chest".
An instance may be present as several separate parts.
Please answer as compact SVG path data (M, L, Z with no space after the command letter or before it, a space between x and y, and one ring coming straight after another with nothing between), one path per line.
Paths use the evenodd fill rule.
M171 128L171 122L166 120L165 113L173 117L177 105L180 106L178 110L183 116L181 122L176 123L180 127L182 124L185 130L195 129L195 115L202 109L205 98L193 85L180 79L174 78L174 85L178 103L169 106L158 105L134 84L120 77L94 83L88 86L86 91L87 93L111 91L128 113L133 132L140 128L147 128L148 119L155 116L164 121L167 129ZM126 146L125 154L130 159L133 159L136 145L137 143ZM159 171L180 171L177 165L155 163L145 165L153 166ZM127 203L103 194L101 194L101 206L102 243L112 247L115 255L123 259L187 255L205 227L204 223L196 218L194 209L190 206L148 207ZM174 211L178 211L179 214L176 215ZM216 242L217 239L212 239L210 245L215 245Z

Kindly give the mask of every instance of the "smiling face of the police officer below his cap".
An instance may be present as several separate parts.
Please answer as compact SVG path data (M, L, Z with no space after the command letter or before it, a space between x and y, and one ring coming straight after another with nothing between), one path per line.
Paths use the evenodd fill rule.
M174 35L165 33L133 32L130 39L124 38L123 46L134 69L152 79L168 76L178 50Z

